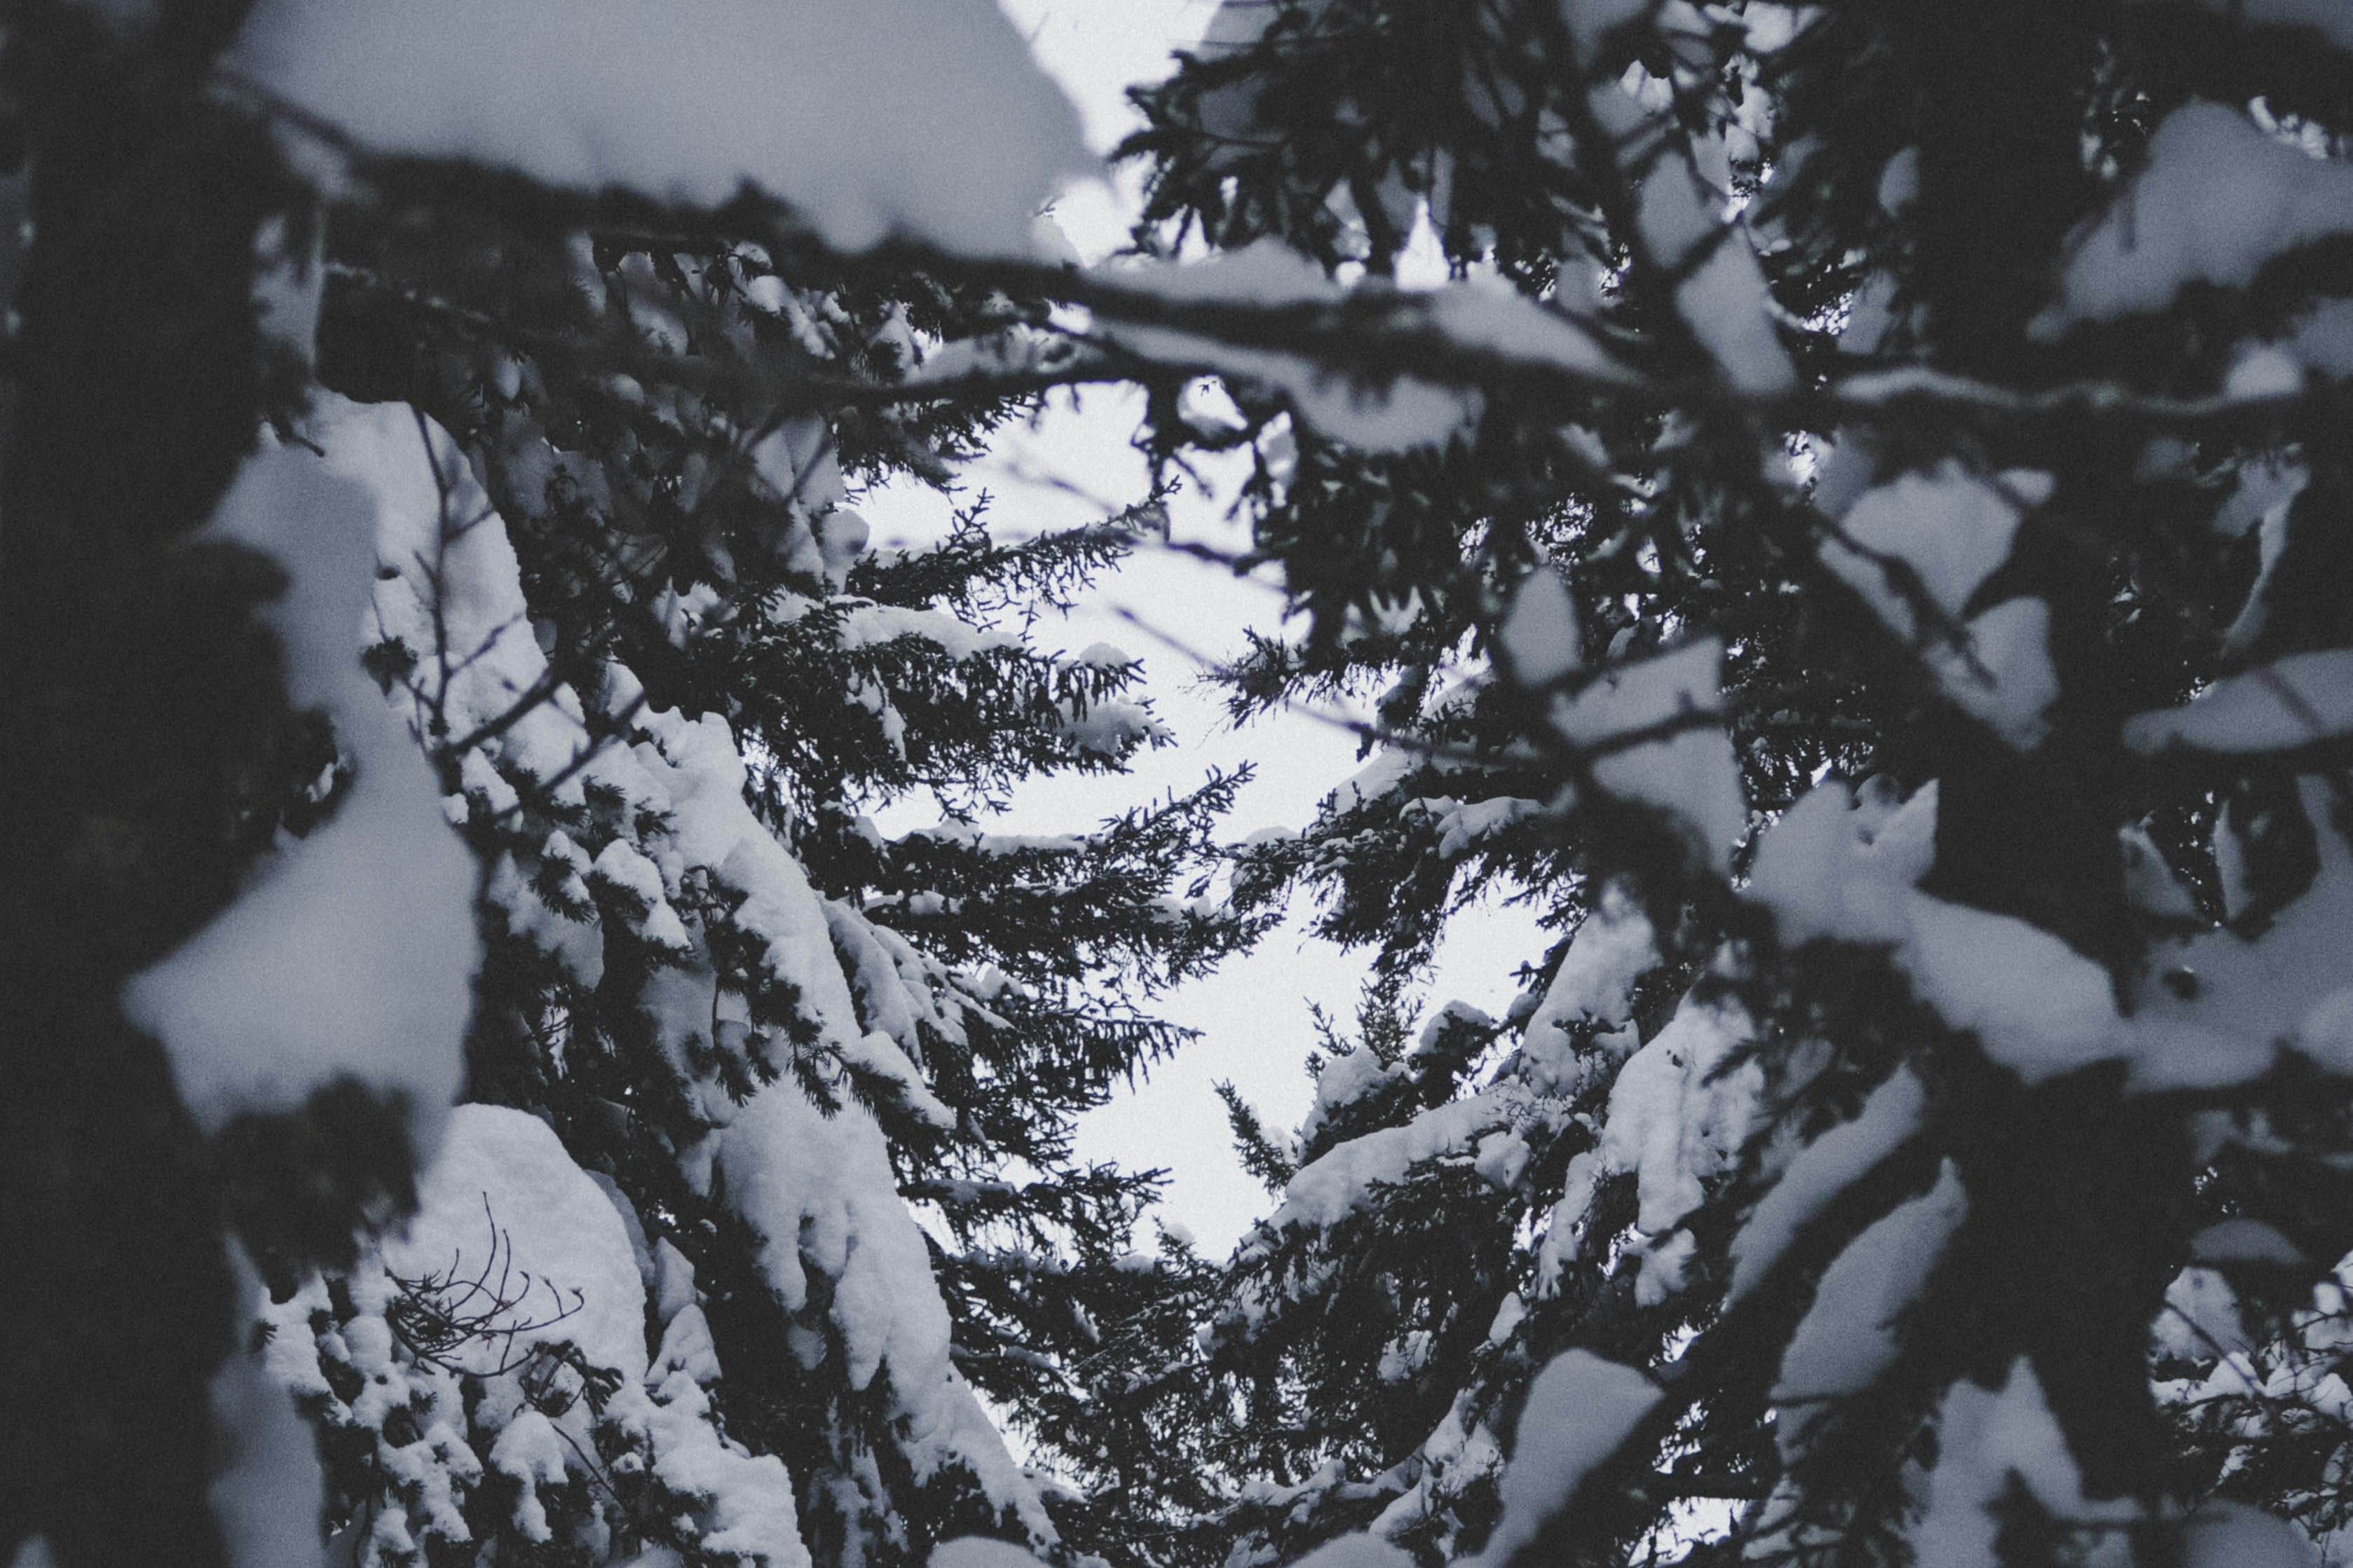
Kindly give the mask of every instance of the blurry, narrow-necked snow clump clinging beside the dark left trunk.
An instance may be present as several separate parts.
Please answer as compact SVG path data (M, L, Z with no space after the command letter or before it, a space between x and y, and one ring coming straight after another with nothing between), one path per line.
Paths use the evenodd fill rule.
M132 978L122 1006L165 1044L207 1128L247 1107L296 1107L351 1077L405 1100L431 1145L464 1077L480 961L475 872L416 741L360 668L388 505L365 473L334 447L322 463L271 444L214 512L212 538L264 550L287 571L292 585L268 611L287 693L334 722L353 785L334 818L273 853L228 910Z

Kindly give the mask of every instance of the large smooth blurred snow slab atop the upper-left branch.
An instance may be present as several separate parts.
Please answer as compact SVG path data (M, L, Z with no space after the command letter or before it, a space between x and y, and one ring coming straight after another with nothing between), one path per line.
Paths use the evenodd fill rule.
M381 153L715 207L831 244L1028 254L1092 158L991 0L264 0L228 63Z

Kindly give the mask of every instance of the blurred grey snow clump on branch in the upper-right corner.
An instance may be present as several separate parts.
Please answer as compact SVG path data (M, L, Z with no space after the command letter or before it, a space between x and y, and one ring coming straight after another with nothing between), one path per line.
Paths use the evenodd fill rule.
M2273 0L2268 9L2339 7ZM2188 282L2247 287L2280 252L2348 228L2353 169L2287 146L2235 108L2184 103L2148 139L2141 174L2075 240L2059 303L2035 329L2057 336L2068 322L2162 310Z

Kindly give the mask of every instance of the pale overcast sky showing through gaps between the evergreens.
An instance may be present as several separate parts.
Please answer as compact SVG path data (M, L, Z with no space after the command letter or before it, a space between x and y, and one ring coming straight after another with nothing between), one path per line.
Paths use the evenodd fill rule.
M1061 80L1099 150L1136 125L1122 89L1167 71L1169 52L1188 47L1214 9L1205 0L1002 0L1038 59ZM1094 259L1125 237L1125 190L1094 186L1066 193L1056 219L1080 254ZM991 522L1007 536L1099 520L1144 494L1144 458L1127 444L1144 400L1089 390L1056 395L1045 416L1007 433L967 475L967 494L988 491ZM1224 548L1247 543L1247 524L1231 515L1231 484L1240 470L1205 473L1212 489L1188 489L1169 512L1174 541ZM1217 487L1228 487L1219 494ZM868 494L859 510L875 543L934 538L951 503L918 484ZM1125 614L1122 614L1125 611ZM1134 616L1129 621L1127 616ZM1355 738L1308 715L1278 715L1242 731L1226 724L1214 693L1198 686L1198 665L1167 639L1212 656L1242 644L1245 628L1275 630L1282 595L1264 581L1238 581L1200 559L1151 550L1101 583L1068 618L1038 628L1047 646L1082 649L1111 642L1144 658L1146 686L1176 731L1176 745L1144 755L1122 778L1038 780L1000 823L1012 832L1068 832L1141 799L1191 790L1217 769L1252 764L1254 780L1228 823L1228 837L1257 827L1304 827L1315 802L1358 766ZM1141 625L1139 625L1141 623ZM1146 630L1148 628L1148 630ZM1155 637L1160 632L1162 637ZM929 818L906 802L889 813L892 830ZM1080 1154L1172 1173L1162 1213L1188 1227L1205 1251L1221 1255L1266 1197L1242 1173L1226 1135L1224 1107L1212 1088L1231 1079L1275 1128L1306 1112L1311 1084L1304 1058L1315 1046L1308 1006L1322 1004L1353 1018L1365 980L1365 954L1341 952L1306 936L1308 910L1292 910L1285 929L1252 954L1162 997L1160 1011L1202 1032L1200 1041L1153 1070L1134 1093L1087 1117ZM1473 910L1459 917L1424 987L1431 1006L1461 997L1499 1013L1513 997L1511 971L1544 947L1520 910Z

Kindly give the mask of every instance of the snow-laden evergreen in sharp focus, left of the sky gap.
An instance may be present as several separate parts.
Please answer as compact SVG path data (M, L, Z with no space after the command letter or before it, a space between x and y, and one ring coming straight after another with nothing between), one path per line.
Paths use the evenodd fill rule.
M395 249L369 216L329 230L329 263L344 244L355 261L327 292L322 378L407 393L464 430L428 461L449 437L409 421L424 435L409 468L435 487L419 517L438 522L384 541L384 637L367 658L421 733L449 736L440 769L492 867L471 1093L548 1119L616 1182L664 1345L711 1352L689 1366L673 1345L654 1382L694 1371L736 1443L786 1460L809 1549L920 1556L969 1530L1054 1542L974 1392L1052 1455L1075 1434L1073 1366L1096 1321L1160 1288L1129 1262L1151 1180L1073 1164L1071 1121L1174 1048L1139 999L1257 929L1202 886L1172 896L1214 867L1233 780L1052 839L951 818L889 842L859 806L932 790L969 816L1028 773L1118 766L1160 738L1122 701L1132 663L1042 656L991 625L991 611L1066 602L1125 550L1127 524L1005 548L969 522L936 550L873 557L842 468L875 475L922 451L939 470L969 437L936 414L828 425L715 390L758 397L776 378L767 355L819 348L845 378L901 376L918 341L1021 329L998 301L913 275L904 292L932 306L920 315L849 289L784 292L758 252L562 235L541 240L539 282L525 242L501 237L482 280L496 299L475 301L471 280L431 266L480 254L478 235L409 223ZM567 296L574 252L595 273ZM414 299L435 303L405 308ZM631 386L532 350L548 341L591 367L631 364ZM409 437L393 425L372 423L379 447ZM513 585L487 534L501 517L518 520ZM468 557L478 531L485 559ZM901 1197L944 1234L920 1232ZM348 1321L320 1328L351 1342ZM332 1427L372 1425L348 1401L322 1408ZM609 1408L654 1432L649 1476L678 1467L659 1418ZM504 1432L473 1436L489 1472ZM647 1448L640 1429L598 1432L574 1455L588 1439ZM391 1441L332 1476L346 1490L332 1514L416 1512ZM482 1474L475 1455L452 1450L445 1469ZM1080 1474L1101 1460L1066 1458ZM628 1500L593 1483L595 1465L569 1481L574 1533L612 1533L614 1549L633 1535L741 1549L734 1519L753 1507L701 1497L696 1542L652 1523L678 1519L664 1493ZM529 1507L546 1490L489 1488L442 1535L494 1540ZM1066 1516L1073 1542L1104 1528L1078 1497ZM386 1561L402 1561L398 1544Z

